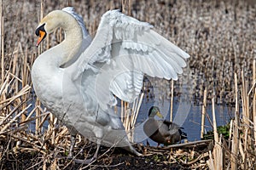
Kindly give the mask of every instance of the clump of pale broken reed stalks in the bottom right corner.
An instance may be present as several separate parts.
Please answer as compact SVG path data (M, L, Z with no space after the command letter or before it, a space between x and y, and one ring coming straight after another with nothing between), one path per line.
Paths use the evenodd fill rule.
M255 71L255 61L253 61L252 70ZM255 73L253 73L254 76ZM229 147L224 147L222 139L218 139L216 129L216 120L214 116L214 99L212 98L212 119L213 119L213 132L214 132L214 148L209 152L209 160L207 165L210 169L223 169L224 167L231 169L247 169L255 168L256 150L255 150L255 120L253 104L255 90L255 82L249 83L244 77L244 71L241 71L241 82L235 73L235 120L230 121L230 139ZM239 91L239 84L241 90ZM251 86L251 88L247 88ZM250 90L248 90L250 89ZM241 95L239 95L239 93ZM241 97L239 97L241 96ZM239 110L239 100L241 99L241 115ZM230 153L225 156L225 151ZM213 154L212 154L213 153ZM225 160L228 164L225 164Z

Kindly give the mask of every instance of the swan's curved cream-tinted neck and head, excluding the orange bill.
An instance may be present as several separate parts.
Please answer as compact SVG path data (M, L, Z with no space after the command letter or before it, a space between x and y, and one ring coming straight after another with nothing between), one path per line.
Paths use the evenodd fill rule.
M53 18L55 20L52 20ZM79 57L79 49L83 41L83 32L78 21L71 14L62 10L56 10L41 20L41 23L44 22L46 23L45 29L49 29L49 32L54 31L58 27L61 27L65 32L65 40L46 51L45 55L47 56L44 57L53 61L57 67L63 68L71 65ZM49 57L49 55L52 56Z

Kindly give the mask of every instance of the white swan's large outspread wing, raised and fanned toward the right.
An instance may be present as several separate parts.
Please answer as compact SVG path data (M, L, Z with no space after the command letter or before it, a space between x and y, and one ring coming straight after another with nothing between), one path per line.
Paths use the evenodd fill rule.
M113 94L132 102L143 75L177 80L189 54L153 31L148 23L111 10L102 15L96 37L78 59L74 79L96 72L96 98L102 109L115 105Z

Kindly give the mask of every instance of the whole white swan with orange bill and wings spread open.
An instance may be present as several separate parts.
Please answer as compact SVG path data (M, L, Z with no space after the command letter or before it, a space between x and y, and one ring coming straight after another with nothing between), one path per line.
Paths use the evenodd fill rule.
M65 31L65 40L40 54L32 66L38 98L71 134L79 132L98 146L115 144L140 156L113 112L113 94L133 101L144 74L176 80L189 54L148 23L118 10L102 15L92 41L73 8L52 11L38 25L37 46L58 27Z

